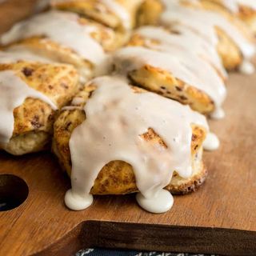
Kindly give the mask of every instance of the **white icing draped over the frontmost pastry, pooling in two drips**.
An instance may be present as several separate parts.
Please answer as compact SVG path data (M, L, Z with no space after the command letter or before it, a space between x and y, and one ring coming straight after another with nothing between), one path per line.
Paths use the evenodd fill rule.
M133 166L138 190L156 203L174 170L184 178L192 174L190 125L208 130L206 118L158 94L135 94L125 78L95 78L93 84L97 89L84 107L86 120L70 138L72 190L66 194L66 206L72 210L89 206L94 180L102 167L114 160ZM159 134L167 148L152 145L140 136L148 128ZM171 202L170 196L162 199ZM160 203L154 212L167 208Z

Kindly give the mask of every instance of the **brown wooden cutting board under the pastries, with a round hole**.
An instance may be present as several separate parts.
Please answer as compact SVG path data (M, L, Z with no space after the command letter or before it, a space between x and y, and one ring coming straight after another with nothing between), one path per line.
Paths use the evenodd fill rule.
M10 24L6 5L0 31ZM54 155L0 152L0 193L26 197L26 186L2 174L17 175L29 188L22 205L0 211L0 255L74 255L90 246L255 255L255 96L256 74L231 75L226 118L210 122L222 145L205 154L209 177L194 194L174 197L166 214L142 210L134 194L95 197L89 209L70 211L63 203L70 181Z

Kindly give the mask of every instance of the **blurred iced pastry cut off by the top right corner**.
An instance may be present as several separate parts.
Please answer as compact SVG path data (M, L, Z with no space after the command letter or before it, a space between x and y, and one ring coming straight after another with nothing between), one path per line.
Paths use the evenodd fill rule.
M208 0L210 2L218 3L224 6L232 14L235 14L246 25L250 27L250 30L256 34L256 2L254 0Z

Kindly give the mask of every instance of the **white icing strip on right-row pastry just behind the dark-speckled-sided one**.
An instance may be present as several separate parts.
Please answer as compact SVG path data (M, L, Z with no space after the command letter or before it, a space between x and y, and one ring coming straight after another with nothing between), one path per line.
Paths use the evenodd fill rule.
M226 70L222 65L222 60L216 50L216 46L210 44L205 38L188 29L186 26L172 26L174 34L170 34L162 27L144 26L138 29L135 34L140 34L142 37L158 40L160 45L149 42L150 48L157 50L170 51L174 53L174 47L180 47L190 53L197 54L200 58L213 64L222 73L224 78L227 77ZM178 32L178 33L177 33ZM208 63L209 64L209 63Z

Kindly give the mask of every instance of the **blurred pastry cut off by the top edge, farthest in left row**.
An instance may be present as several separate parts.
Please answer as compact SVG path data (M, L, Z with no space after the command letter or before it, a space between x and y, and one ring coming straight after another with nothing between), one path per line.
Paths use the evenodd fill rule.
M131 30L142 0L52 0L51 6L91 18L114 30Z

